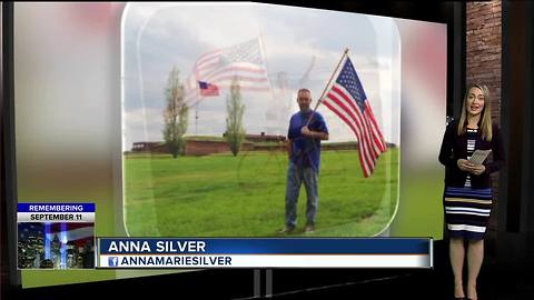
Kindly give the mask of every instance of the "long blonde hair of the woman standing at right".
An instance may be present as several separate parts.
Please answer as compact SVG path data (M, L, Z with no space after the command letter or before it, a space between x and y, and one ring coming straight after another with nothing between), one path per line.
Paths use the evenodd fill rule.
M464 104L462 106L462 114L458 121L458 136L465 134L467 127L467 97L472 88L478 88L484 94L484 109L482 110L482 117L479 121L479 134L482 139L492 141L492 102L490 101L490 90L483 84L469 84L464 96Z

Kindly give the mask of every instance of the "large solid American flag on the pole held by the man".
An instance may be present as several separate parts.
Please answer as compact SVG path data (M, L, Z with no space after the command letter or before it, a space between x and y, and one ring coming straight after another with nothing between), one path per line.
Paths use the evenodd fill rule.
M369 177L379 154L386 151L386 143L348 56L322 103L342 118L356 136L359 163L364 176Z

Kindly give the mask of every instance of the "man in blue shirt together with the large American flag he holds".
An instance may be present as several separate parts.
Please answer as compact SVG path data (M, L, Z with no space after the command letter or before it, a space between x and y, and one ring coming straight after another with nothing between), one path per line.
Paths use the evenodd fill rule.
M323 96L314 110L309 108L309 90L298 91L297 102L300 111L291 117L289 123L289 168L286 190L286 228L287 233L295 229L297 222L297 199L301 181L308 198L306 207L307 224L305 232L314 231L317 213L317 178L320 162L320 140L328 140L326 123L317 112L323 103L339 117L354 132L358 140L359 162L364 177L373 174L378 157L386 151L386 143L375 120L362 82L345 49Z

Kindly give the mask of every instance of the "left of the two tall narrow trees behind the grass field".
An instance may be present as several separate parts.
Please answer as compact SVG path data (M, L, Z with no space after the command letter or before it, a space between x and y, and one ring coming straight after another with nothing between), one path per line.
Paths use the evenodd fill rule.
M176 66L169 72L165 97L167 107L164 119L164 140L174 158L184 152L184 134L187 131L189 108L184 102L184 84L180 83L179 71Z

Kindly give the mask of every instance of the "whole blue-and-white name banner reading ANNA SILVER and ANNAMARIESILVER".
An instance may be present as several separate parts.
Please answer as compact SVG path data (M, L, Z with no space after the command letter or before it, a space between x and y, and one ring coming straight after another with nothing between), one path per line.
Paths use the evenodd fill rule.
M433 268L432 253L418 238L99 238L97 268Z

